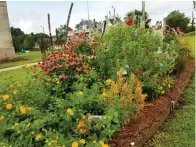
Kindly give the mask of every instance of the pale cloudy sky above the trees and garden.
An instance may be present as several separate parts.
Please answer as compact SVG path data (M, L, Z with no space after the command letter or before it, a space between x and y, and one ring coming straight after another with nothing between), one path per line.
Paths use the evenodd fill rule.
M68 1L56 1L56 2L7 2L8 15L10 26L19 27L25 33L38 33L42 32L40 26L44 26L45 32L48 33L47 25L47 13L50 13L51 17L51 29L54 33L55 28L60 24L66 24L67 15L71 2ZM111 6L114 6L116 13L121 18L131 10L141 10L141 1L89 1L90 19L96 19L97 21L103 21L109 11L113 11ZM146 1L146 11L149 17L152 19L152 24L156 21L161 21L164 16L173 10L180 10L185 15L191 18L192 16L192 1ZM72 15L70 20L70 27L75 29L75 25L80 20L87 19L87 2L86 1L74 1Z

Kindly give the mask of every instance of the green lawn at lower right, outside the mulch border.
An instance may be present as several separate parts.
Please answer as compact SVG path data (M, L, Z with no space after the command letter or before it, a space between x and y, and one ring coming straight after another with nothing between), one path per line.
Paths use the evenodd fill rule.
M182 103L145 147L195 146L195 78L185 89Z

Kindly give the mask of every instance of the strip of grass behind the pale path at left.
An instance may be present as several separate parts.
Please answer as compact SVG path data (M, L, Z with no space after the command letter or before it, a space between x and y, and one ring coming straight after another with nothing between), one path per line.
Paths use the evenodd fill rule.
M17 59L21 59L21 61L13 61L13 62L6 62L0 64L0 69L7 68L7 67L13 67L17 65L23 65L28 63L34 63L39 62L42 58L40 51L32 51L29 53L23 53L23 54L16 54Z

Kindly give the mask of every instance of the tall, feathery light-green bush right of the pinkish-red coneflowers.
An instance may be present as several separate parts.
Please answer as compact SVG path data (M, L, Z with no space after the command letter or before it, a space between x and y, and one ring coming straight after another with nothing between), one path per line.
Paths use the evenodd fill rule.
M112 27L105 34L98 49L93 67L104 79L116 79L120 67L126 73L133 72L142 86L158 95L157 83L154 76L165 77L172 73L177 53L167 43L162 43L160 37L149 30L137 29L135 26L124 24ZM149 98L151 99L150 95Z

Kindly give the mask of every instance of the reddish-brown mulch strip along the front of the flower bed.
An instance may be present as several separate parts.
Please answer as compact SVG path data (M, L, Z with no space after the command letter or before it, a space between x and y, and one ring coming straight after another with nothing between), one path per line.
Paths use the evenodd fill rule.
M148 102L143 110L135 116L135 118L127 125L122 126L120 132L113 135L110 145L112 147L132 147L131 143L135 143L135 147L142 146L142 138L148 136L155 124L167 117L165 114L170 111L171 101L177 101L182 94L184 88L188 84L195 70L195 60L190 59L184 72L174 77L174 84L170 91L160 98ZM150 134L149 133L149 134ZM147 141L147 140L145 140ZM142 142L142 143L139 143Z

